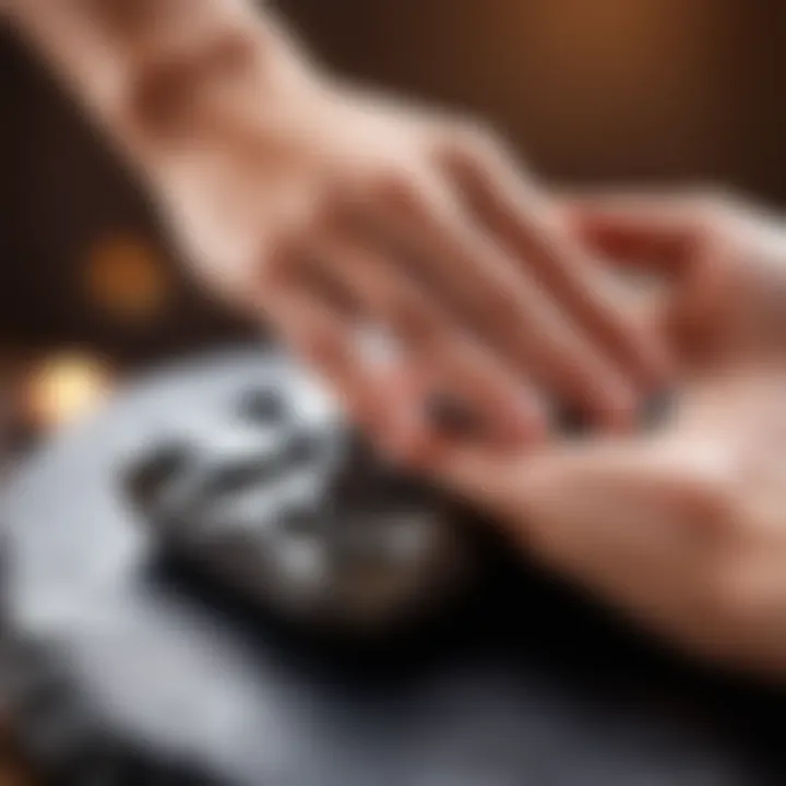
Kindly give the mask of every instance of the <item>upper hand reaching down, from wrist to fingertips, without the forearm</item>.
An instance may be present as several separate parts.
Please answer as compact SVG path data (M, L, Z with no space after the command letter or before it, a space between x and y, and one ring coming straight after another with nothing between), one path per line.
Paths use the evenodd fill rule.
M420 414L400 417L388 372L359 362L359 325L393 336L396 376L450 391L497 439L543 437L544 395L630 425L664 377L656 341L492 134L324 78L279 83L156 166L211 284L400 434Z

